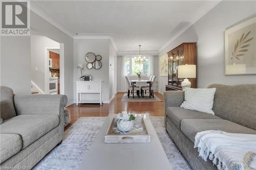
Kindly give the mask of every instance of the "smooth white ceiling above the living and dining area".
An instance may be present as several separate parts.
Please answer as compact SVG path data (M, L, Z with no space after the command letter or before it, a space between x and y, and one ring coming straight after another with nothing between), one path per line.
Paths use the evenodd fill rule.
M36 1L73 35L111 36L118 52L159 51L219 2Z

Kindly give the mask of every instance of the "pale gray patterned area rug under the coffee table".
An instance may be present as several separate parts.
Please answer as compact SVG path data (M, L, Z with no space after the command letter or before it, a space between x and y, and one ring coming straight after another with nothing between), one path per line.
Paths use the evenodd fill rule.
M65 131L63 142L33 169L77 169L106 117L81 117ZM192 170L176 144L164 129L164 118L150 117L163 149L174 170Z

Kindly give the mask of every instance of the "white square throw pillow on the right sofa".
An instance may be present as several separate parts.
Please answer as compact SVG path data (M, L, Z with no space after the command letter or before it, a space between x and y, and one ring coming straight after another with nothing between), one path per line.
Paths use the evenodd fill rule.
M185 88L184 102L180 107L214 114L214 94L216 88Z

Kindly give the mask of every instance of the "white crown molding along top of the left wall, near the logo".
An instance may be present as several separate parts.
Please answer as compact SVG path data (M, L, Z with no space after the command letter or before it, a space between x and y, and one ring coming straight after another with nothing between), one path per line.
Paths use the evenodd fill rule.
M38 2L36 1L30 1L30 9L49 23L51 23L54 27L61 30L63 33L67 34L70 37L74 37L74 33L71 31L71 29L67 28L63 23L61 23L61 20L54 17L47 9L42 7Z

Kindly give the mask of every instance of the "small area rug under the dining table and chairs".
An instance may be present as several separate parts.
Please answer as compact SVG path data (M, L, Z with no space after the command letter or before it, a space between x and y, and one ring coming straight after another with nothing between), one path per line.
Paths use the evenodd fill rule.
M138 98L137 95L134 94L134 99L133 99L133 94L130 94L130 98L128 98L127 93L123 94L121 102L162 102L156 95L154 95L155 98L153 98L149 94L144 94L144 98L140 96Z

